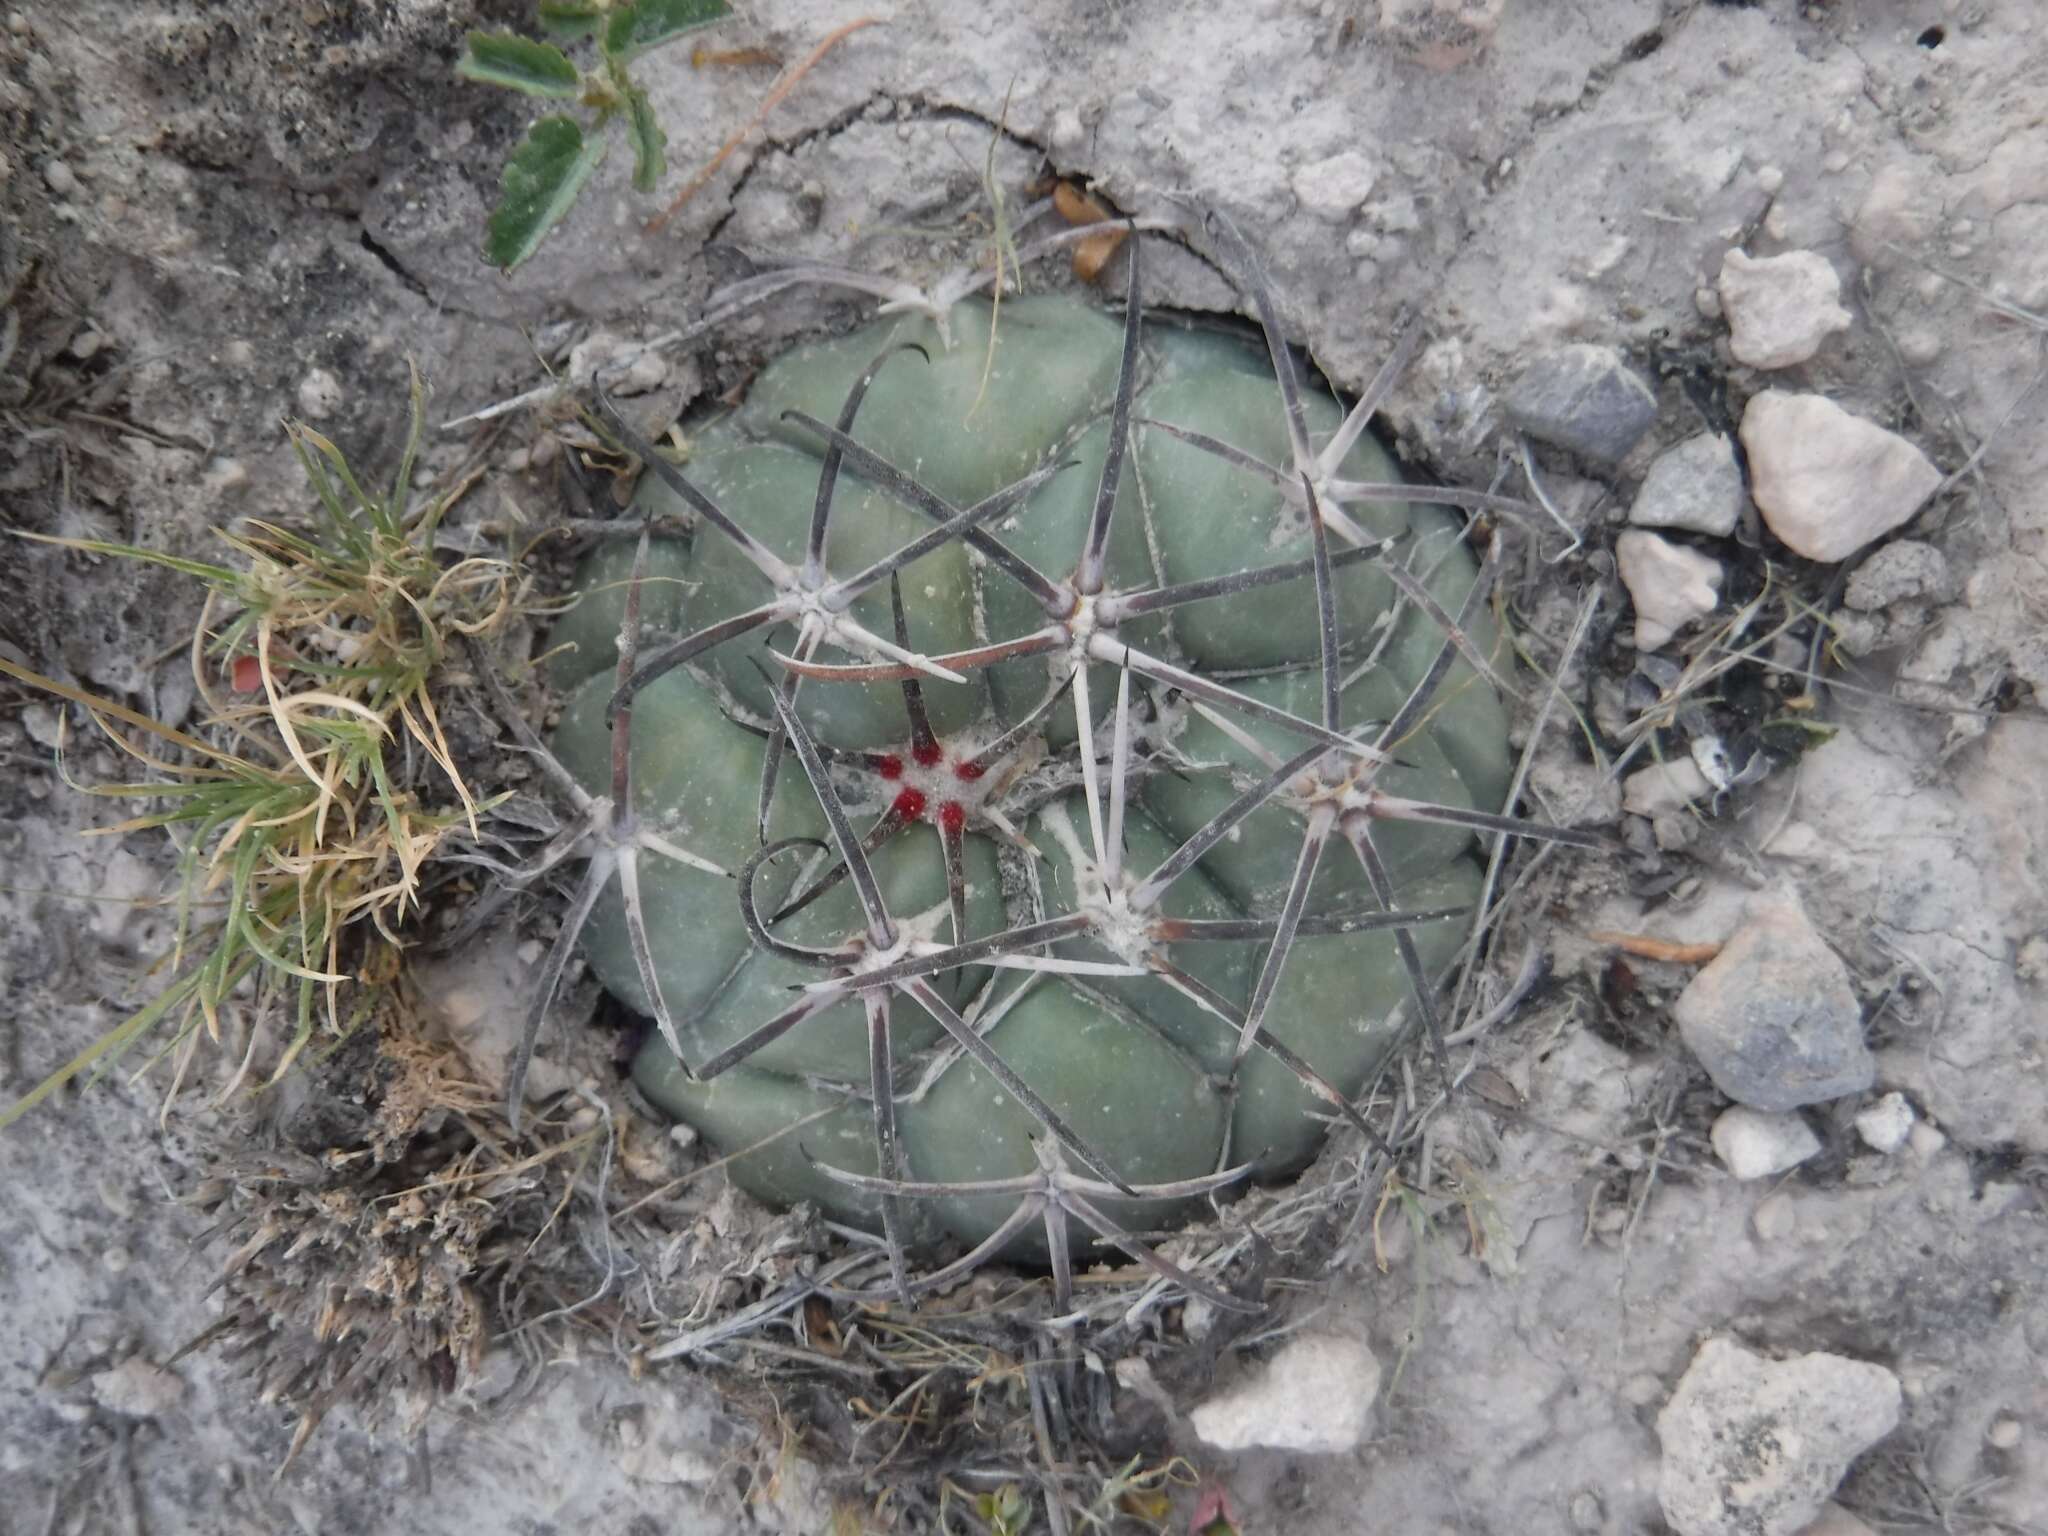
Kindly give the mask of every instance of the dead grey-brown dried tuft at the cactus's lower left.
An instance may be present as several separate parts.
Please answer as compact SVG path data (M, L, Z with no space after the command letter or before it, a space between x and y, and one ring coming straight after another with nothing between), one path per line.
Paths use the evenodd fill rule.
M496 1329L559 1315L590 1286L573 1243L541 1239L608 1133L557 1118L512 1137L406 987L377 993L356 1038L354 1059L315 1069L322 1092L344 1073L369 1090L356 1124L336 1130L315 1102L305 1135L285 1135L317 1151L227 1159L190 1196L213 1217L203 1241L225 1253L225 1309L180 1354L219 1346L258 1401L297 1413L285 1464L344 1401L412 1434L473 1378Z

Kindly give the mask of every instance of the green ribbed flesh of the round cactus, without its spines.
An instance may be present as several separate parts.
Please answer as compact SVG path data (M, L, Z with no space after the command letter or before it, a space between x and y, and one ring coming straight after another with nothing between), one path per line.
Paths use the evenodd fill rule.
M989 524L1040 571L1069 575L1108 449L1106 412L1122 330L1114 317L1069 299L1010 299L1001 307L993 365L985 350L985 305L961 305L952 336L954 346L946 350L930 322L905 317L797 348L754 383L745 406L698 434L684 473L774 555L801 563L821 444L786 414L801 410L836 420L870 362L895 344L915 342L926 356L905 352L879 369L852 436L958 508L1047 461L1071 461L1071 469ZM1309 393L1305 406L1311 440L1321 442L1339 420L1337 401ZM1133 414L1221 438L1268 463L1288 457L1286 420L1268 358L1227 334L1147 326ZM1399 477L1370 436L1352 451L1341 475ZM653 477L643 498L664 512L686 510ZM1370 539L1403 535L1401 559L1446 608L1458 608L1475 561L1456 541L1456 518L1409 504L1348 510ZM829 524L831 569L858 569L930 526L930 518L846 469ZM1139 422L1130 428L1106 553L1110 588L1141 590L1305 559L1311 539L1300 508L1270 483ZM610 774L604 707L629 563L631 551L621 547L596 553L580 575L586 598L555 637L575 647L553 664L553 680L569 690L555 748L592 791ZM657 547L643 586L643 643L657 645L743 612L762 602L762 592L756 569L702 528L688 541ZM1430 668L1442 629L1413 606L1389 623L1395 588L1372 561L1335 571L1333 594L1343 670L1358 674L1339 698L1341 725L1386 721ZM967 651L1047 623L1026 590L958 541L901 571L901 600L909 647L924 655ZM891 633L887 584L862 594L852 614L868 631ZM1497 639L1485 614L1470 631L1483 647ZM788 627L762 633L768 647L793 647ZM1317 713L1319 614L1307 580L1135 616L1120 635L1194 672L1233 678L1233 688L1290 715L1313 719ZM1376 659L1366 666L1374 651ZM713 649L694 674L670 672L639 692L633 711L637 813L672 842L735 870L760 846L756 813L766 752L760 723L774 719L770 678L776 676L758 666L760 655L760 635ZM817 659L854 657L827 647ZM969 684L922 680L938 737L924 754L932 762L918 762L897 682L803 686L797 711L819 743L838 750L834 782L856 825L866 827L891 807L909 811L909 825L872 856L877 883L901 922L922 918L942 940L952 938L946 860L936 829L944 815L965 827L967 932L958 938L1104 899L1112 883L1098 866L1087 807L1075 788L1075 709L1047 713L1042 743L1020 758L1026 768L1036 764L1036 772L1018 776L1016 766L1006 766L989 778L958 776L979 745L1047 696L1061 668L1073 668L1065 651L979 668ZM1096 750L1106 754L1118 668L1098 657L1087 664L1085 684L1098 721ZM1130 692L1145 772L1135 774L1141 788L1122 825L1126 885L1157 868L1247 780L1260 778L1272 758L1303 748L1284 725L1266 719L1219 723L1157 682L1133 680ZM735 715L752 717L754 729L735 723ZM1497 811L1507 786L1501 702L1458 662L1425 723L1399 743L1397 758L1378 780L1382 788L1436 805ZM897 764L893 774L891 762ZM1067 764L1065 780L1053 772L1059 764ZM995 782L1012 776L1014 784ZM1032 852L999 848L1001 827L1022 834ZM817 799L795 766L784 764L768 838L811 838L821 846L825 836ZM1180 920L1270 918L1288 893L1300 844L1300 807L1276 799L1210 848L1163 895L1159 911ZM1405 909L1458 905L1477 895L1479 864L1464 827L1389 823L1378 848L1395 881L1397 905ZM776 858L756 879L764 911L815 879L817 868L803 870L799 852ZM733 1047L801 995L795 987L817 977L750 942L729 879L651 862L641 866L641 891L662 995L692 1063ZM1317 866L1305 911L1374 905L1360 862L1339 840ZM852 885L842 881L776 924L774 934L797 944L834 944L860 928L860 905ZM1423 967L1440 969L1462 934L1464 926L1452 922L1417 926L1413 940ZM647 1012L651 999L627 944L616 893L600 903L584 944L602 981ZM1260 940L1223 940L1178 946L1176 958L1214 995L1243 1010L1264 950ZM1053 952L1118 958L1094 936L1067 940ZM993 1051L1130 1184L1192 1180L1243 1161L1255 1161L1264 1176L1282 1176L1315 1153L1323 1135L1315 1114L1327 1108L1274 1055L1237 1053L1237 1032L1184 989L1157 975L1004 973L1001 981L993 975L985 965L963 965L930 981L956 1010L973 1012L981 1001L991 1016L999 1014L987 1030ZM1030 985L1012 999L1024 981ZM1266 1028L1352 1094L1393 1049L1397 1026L1391 1018L1407 993L1391 932L1305 936L1278 975ZM895 1061L909 1063L911 1073L907 1083L899 1079L897 1096L905 1178L987 1182L1034 1167L1030 1143L1040 1135L1038 1124L981 1063L954 1059L920 1081L913 1071L920 1053L946 1044L940 1024L899 1004L889 1028ZM829 1163L852 1174L877 1171L868 1108L838 1087L864 1092L868 1069L862 1006L848 997L711 1081L688 1079L670 1049L649 1038L635 1077L655 1104L696 1124L721 1151L766 1143L731 1165L733 1178L754 1194L778 1204L811 1200L836 1217L874 1223L879 1198L872 1192L846 1188L819 1169ZM1126 1225L1161 1223L1157 1204L1104 1202L1104 1208ZM915 1219L926 1233L936 1223L958 1239L979 1241L1004 1214L1001 1200L963 1194L920 1202ZM1042 1251L1042 1235L1024 1233L1012 1243L1016 1251L1034 1245Z

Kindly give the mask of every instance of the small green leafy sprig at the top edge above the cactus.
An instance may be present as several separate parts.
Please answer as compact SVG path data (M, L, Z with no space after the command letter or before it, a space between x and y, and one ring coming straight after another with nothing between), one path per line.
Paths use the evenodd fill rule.
M668 133L647 92L627 66L651 47L731 14L725 0L541 0L541 31L559 43L594 41L596 66L580 68L557 43L516 33L469 33L457 66L465 80L508 86L543 100L578 102L596 113L580 123L551 113L526 129L506 162L492 209L483 256L512 270L539 250L547 231L584 190L610 150L606 129L625 123L633 143L633 186L651 193L668 170Z

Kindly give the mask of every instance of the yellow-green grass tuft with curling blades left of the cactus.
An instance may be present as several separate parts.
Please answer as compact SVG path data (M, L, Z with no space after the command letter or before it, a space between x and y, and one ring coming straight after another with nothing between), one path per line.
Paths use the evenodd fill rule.
M172 729L0 657L0 672L82 707L137 764L133 780L78 786L143 807L92 836L162 829L178 850L176 938L156 995L0 1110L0 1128L160 1030L154 1059L174 1053L182 1079L201 1036L219 1042L221 1004L244 983L258 1018L293 1020L283 1073L319 1022L342 1036L362 1020L350 983L395 969L422 864L479 811L440 727L434 672L455 637L500 631L522 594L508 561L436 555L434 532L473 477L414 506L424 403L414 373L412 432L385 494L328 438L287 424L317 506L305 528L221 528L233 563L25 535L205 586L190 651L207 719Z

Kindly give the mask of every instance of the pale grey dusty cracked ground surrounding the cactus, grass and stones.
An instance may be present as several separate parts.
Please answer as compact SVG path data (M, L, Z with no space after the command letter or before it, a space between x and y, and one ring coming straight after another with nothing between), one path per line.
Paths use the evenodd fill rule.
M451 418L532 383L532 328L672 326L709 287L713 240L915 270L922 244L899 231L981 207L997 121L1012 184L1049 164L1126 211L1227 211L1339 385L1362 385L1419 317L1391 424L1438 475L1495 479L1516 446L1503 401L1559 346L1614 348L1651 383L1655 424L1618 463L1536 446L1583 543L1552 559L1565 539L1548 532L1513 590L1550 655L1581 594L1604 590L1571 680L1604 729L1657 694L1630 684L1612 557L1651 463L1733 434L1765 387L1827 395L1942 473L1896 535L1935 551L1939 575L1849 625L1825 745L1772 756L1698 813L1624 815L1556 733L1542 803L1612 823L1628 852L1561 883L1503 946L1544 946L1552 979L1477 1044L1505 1112L1448 1116L1434 1149L1483 1219L1452 1208L1419 1241L1382 1223L1384 1274L1362 1225L1292 1303L1290 1325L1380 1364L1358 1444L1227 1454L1186 1425L1178 1444L1247 1532L1655 1532L1673 1454L1659 1415L1722 1337L1890 1372L1896 1427L1849 1448L1835 1495L1870 1528L2048 1530L2048 14L2034 0L1190 10L1208 12L883 6L889 25L834 53L662 236L641 233L647 205L616 154L567 233L504 281L475 246L522 115L457 84L453 57L467 25L522 6L16 4L0 29L0 516L197 551L211 522L295 504L283 414L389 461L408 352ZM793 59L858 14L752 0L723 37ZM772 68L692 70L682 47L649 78L680 186ZM1821 258L1843 324L1806 360L1737 360L1718 283L1731 248ZM1155 266L1161 301L1229 303L1194 254ZM793 303L700 362L737 377L778 334L846 313ZM438 463L467 440L442 438ZM1520 471L1505 487L1524 489ZM514 473L489 492L510 510L541 494ZM1704 635L1755 596L1765 559L1825 610L1862 559L1796 561L1747 506L1731 535L1690 543L1729 575L1718 612L1659 649L1675 664L1712 655ZM14 547L0 594L8 655L168 717L190 709L176 647L195 602L176 580ZM1761 610L1757 633L1782 616ZM1808 649L1763 657L1800 670ZM1745 676L1755 694L1761 670ZM1706 733L1702 719L1667 739ZM78 838L104 807L66 791L53 725L0 690L8 1096L119 1016L164 936L160 918L98 899L154 893L162 848ZM113 770L92 748L68 766ZM1737 1180L1710 1135L1729 1100L1669 1016L1698 967L1618 965L1589 934L1718 942L1759 893L1796 901L1843 963L1876 1069L1800 1112L1815 1155ZM1886 1094L1915 1122L1894 1151L1858 1128ZM0 1141L0 1528L821 1528L801 1468L778 1497L739 1495L727 1468L754 1430L700 1378L631 1380L598 1358L547 1360L420 1440L338 1415L272 1481L289 1421L233 1362L156 1370L211 1315L203 1223L176 1196L221 1124L190 1108L160 1126L156 1079L117 1075ZM1225 1358L1214 1391L1270 1350ZM1802 1454L1751 1452L1765 1479ZM1763 1528L1702 1520L1686 1530Z

